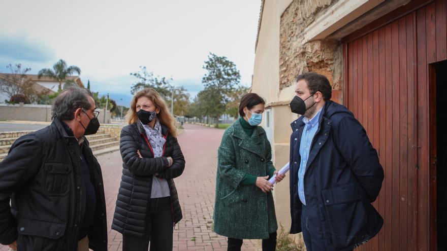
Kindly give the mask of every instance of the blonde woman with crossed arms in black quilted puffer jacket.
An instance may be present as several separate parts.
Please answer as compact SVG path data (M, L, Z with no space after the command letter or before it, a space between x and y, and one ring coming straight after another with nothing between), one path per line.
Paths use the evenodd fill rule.
M172 250L173 227L182 218L174 178L185 159L174 117L152 88L132 98L122 128L122 177L112 229L123 237L122 250Z

